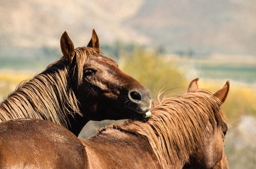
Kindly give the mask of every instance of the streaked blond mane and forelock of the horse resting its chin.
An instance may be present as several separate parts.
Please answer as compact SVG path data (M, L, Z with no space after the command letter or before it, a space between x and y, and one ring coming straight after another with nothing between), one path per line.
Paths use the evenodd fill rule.
M72 70L66 58L61 56L42 73L20 83L0 103L0 122L16 118L39 118L67 127L69 115L74 117L78 113L82 116L70 76L77 77L78 85L81 84L83 65L95 52L98 53L98 50L79 47L75 49L76 65Z

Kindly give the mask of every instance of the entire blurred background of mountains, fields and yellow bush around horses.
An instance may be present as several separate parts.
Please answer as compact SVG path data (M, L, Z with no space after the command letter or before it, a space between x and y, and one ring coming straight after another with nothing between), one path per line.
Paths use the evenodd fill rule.
M94 28L102 52L148 87L181 94L199 77L215 92L230 80L223 109L230 168L256 164L256 1L253 0L0 0L0 98L61 56L67 31L86 46ZM175 95L174 95L175 96ZM95 127L121 121L89 122Z

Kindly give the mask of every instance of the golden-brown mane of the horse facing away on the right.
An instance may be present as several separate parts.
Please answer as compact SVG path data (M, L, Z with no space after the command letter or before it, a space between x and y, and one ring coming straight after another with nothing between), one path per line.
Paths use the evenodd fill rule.
M201 138L225 122L225 114L220 108L221 101L207 90L199 89L178 97L165 95L162 100L160 95L153 103L152 116L147 122L128 120L108 128L144 137L160 164L167 167L175 162L175 156L188 160L196 148L202 146Z

